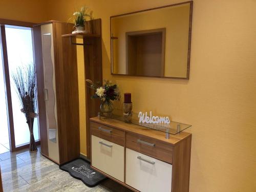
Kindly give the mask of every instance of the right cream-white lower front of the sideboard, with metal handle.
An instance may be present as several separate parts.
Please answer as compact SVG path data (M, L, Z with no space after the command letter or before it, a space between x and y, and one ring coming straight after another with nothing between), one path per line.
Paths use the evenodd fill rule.
M172 165L126 148L125 180L142 192L170 192Z

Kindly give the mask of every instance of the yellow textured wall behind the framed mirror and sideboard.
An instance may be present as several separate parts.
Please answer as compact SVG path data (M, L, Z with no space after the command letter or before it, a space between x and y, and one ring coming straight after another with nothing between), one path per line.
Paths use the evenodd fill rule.
M110 74L110 16L177 2L56 0L49 1L48 19L66 21L74 7L91 7L102 19L103 78L132 93L134 111L152 110L193 124L191 192L254 192L256 1L194 1L189 80ZM5 15L0 11L0 16Z

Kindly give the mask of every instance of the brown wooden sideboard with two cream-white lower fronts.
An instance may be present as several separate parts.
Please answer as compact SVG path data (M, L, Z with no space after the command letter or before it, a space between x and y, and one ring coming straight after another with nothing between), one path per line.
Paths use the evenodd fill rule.
M165 133L116 119L90 119L91 166L134 191L189 190L191 134Z

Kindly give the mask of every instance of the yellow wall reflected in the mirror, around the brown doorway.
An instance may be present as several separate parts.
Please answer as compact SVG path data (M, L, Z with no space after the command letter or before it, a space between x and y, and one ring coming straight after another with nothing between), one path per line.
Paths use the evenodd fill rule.
M165 28L165 77L187 76L187 46L189 29L189 6L140 12L129 16L112 18L114 64L113 73L126 72L126 32ZM159 63L160 65L160 63Z

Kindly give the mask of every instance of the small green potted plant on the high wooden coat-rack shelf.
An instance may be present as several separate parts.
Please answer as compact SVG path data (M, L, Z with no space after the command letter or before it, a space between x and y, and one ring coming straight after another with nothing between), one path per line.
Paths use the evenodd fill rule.
M75 11L73 13L73 19L74 19L74 24L75 24L75 31L83 32L83 33L88 33L89 29L86 29L84 27L84 24L87 21L87 18L92 19L92 11L89 13L89 8L88 7L81 7L79 11Z

